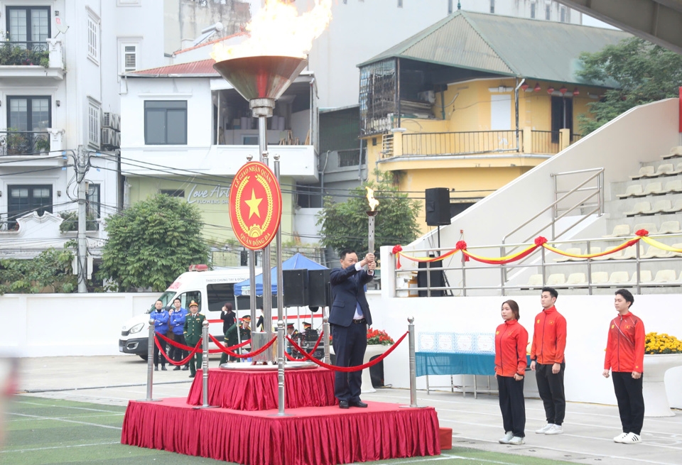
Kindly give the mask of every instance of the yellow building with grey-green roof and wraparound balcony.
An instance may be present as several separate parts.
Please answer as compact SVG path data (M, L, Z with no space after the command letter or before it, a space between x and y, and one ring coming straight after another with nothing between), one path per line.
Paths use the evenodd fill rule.
M629 34L458 11L362 63L367 165L418 196L450 190L450 216L580 138L615 83L576 75L579 55ZM422 212L418 221L428 228Z

